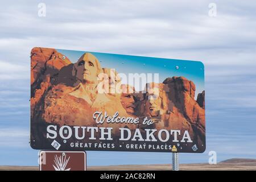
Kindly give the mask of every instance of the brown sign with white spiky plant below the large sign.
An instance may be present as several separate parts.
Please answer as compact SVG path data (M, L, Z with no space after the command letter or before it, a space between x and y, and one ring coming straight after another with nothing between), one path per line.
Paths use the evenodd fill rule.
M86 171L83 151L40 151L40 171Z

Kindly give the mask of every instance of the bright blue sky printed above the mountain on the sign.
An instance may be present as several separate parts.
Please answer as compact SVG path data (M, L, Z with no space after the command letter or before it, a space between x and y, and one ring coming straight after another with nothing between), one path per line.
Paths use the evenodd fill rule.
M88 51L72 51L57 49L60 53L71 60L72 63L76 63L77 60ZM200 61L188 61L188 60L175 60L175 59L163 59L159 57L144 57L144 56L130 56L130 55L117 55L113 53L100 53L90 52L100 61L102 68L115 69L118 73L123 73L126 78L123 78L122 83L127 84L129 82L129 73L145 73L152 74L151 79L154 82L163 82L168 77L184 76L188 80L192 80L196 85L196 97L197 94L204 90L204 65ZM154 80L154 73L159 74L159 80ZM145 80L147 82L152 82ZM143 90L144 85L142 81L133 85L136 91Z

